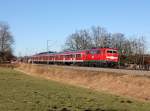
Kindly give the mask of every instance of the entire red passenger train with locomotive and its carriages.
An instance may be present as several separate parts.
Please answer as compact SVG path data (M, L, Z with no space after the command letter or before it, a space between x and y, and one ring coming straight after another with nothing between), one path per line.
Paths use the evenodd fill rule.
M92 48L60 53L40 53L31 57L32 63L75 64L84 66L114 66L118 64L118 49Z

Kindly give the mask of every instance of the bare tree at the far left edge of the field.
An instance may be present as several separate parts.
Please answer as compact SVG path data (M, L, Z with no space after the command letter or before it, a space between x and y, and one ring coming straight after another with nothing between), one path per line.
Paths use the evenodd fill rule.
M14 43L10 27L7 23L0 22L0 63L10 61L13 56L12 45Z

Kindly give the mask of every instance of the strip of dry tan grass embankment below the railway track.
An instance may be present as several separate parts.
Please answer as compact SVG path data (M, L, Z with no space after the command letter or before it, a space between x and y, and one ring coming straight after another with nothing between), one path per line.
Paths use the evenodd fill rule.
M30 64L22 64L18 69L34 76L150 101L150 78L145 76Z

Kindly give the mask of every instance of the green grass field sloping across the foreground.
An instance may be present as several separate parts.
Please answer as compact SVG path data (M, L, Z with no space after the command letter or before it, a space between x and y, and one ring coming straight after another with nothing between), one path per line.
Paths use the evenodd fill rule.
M0 111L150 111L150 103L0 68Z

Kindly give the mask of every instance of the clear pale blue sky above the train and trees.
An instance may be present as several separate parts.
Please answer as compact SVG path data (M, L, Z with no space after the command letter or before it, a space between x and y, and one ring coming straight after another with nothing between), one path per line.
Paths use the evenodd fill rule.
M46 51L47 41L60 51L70 34L92 26L150 44L150 0L0 0L0 21L10 25L17 56Z

